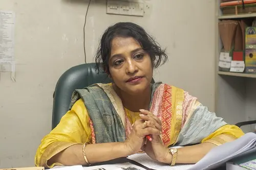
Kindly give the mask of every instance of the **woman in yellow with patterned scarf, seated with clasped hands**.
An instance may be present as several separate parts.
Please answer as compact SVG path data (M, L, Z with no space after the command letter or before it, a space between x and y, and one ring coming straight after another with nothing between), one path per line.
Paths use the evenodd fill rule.
M153 68L166 60L165 51L135 23L109 27L96 63L114 83L73 93L70 111L41 140L35 164L89 165L140 151L170 165L196 163L212 148L244 134L186 91L151 84Z

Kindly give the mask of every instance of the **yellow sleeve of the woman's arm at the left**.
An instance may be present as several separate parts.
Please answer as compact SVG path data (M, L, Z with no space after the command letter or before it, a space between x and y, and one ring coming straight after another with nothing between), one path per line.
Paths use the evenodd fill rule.
M59 162L55 161L56 155L90 141L89 114L82 100L78 100L72 109L61 118L60 123L42 138L35 155L35 165L45 167L58 165Z

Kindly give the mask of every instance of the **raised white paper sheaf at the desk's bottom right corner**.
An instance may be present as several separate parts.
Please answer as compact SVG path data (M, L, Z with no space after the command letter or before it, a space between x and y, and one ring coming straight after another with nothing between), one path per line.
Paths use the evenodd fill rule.
M246 133L244 136L224 143L208 152L200 161L188 170L206 170L219 167L226 161L256 147L256 134Z

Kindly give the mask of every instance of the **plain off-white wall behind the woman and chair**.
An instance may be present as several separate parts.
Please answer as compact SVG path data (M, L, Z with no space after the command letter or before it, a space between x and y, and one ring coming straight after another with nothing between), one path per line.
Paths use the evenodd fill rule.
M147 0L144 17L105 14L92 1L86 27L87 61L93 62L102 32L118 21L139 23L167 47L169 62L155 79L215 106L215 1ZM16 12L16 82L0 80L0 168L33 166L40 139L51 130L52 94L60 75L84 62L82 27L88 1L1 0ZM202 26L200 26L202 25Z

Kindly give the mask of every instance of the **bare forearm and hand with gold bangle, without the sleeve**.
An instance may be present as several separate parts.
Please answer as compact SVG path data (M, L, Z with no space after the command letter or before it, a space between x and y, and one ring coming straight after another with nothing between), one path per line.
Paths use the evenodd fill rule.
M87 144L85 152L88 162L93 164L135 154L141 149L145 141L145 135L149 134L159 135L160 131L155 128L145 127L144 121L136 120L129 138L124 142ZM72 145L53 156L49 163L88 165L84 159L82 148L83 144Z

